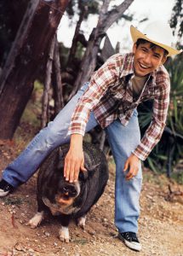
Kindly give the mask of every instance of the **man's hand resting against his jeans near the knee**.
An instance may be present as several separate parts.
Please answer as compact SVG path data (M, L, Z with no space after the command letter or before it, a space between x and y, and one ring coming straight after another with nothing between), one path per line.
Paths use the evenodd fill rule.
M139 166L140 159L136 155L131 154L128 160L126 160L123 169L123 172L126 172L129 169L129 172L126 175L127 180L137 175L137 172L139 172Z

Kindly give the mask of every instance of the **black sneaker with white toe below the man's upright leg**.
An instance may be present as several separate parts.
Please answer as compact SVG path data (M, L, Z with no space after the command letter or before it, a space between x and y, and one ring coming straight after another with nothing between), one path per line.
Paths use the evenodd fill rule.
M141 244L136 234L133 232L124 232L118 234L119 239L121 239L124 244L134 251L140 252Z

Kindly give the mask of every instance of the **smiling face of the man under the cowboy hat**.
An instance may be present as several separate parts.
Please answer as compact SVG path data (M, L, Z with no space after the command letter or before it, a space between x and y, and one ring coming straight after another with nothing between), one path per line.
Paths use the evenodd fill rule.
M152 73L158 66L166 61L164 50L161 47L151 48L151 43L134 44L134 74L138 77L144 77Z

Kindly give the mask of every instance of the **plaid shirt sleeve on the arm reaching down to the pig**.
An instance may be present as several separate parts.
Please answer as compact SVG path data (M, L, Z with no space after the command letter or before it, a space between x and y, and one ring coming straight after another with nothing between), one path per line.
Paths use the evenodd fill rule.
M77 133L84 136L89 113L105 94L107 87L117 80L121 62L122 58L119 55L113 55L91 77L89 88L80 97L72 114L67 135Z

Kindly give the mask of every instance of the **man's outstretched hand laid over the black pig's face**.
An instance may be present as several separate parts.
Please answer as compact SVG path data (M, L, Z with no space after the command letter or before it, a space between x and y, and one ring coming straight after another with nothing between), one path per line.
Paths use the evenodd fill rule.
M66 181L70 183L76 182L80 170L83 172L87 171L84 168L83 136L72 134L70 148L66 154L64 164L64 177L66 177Z

